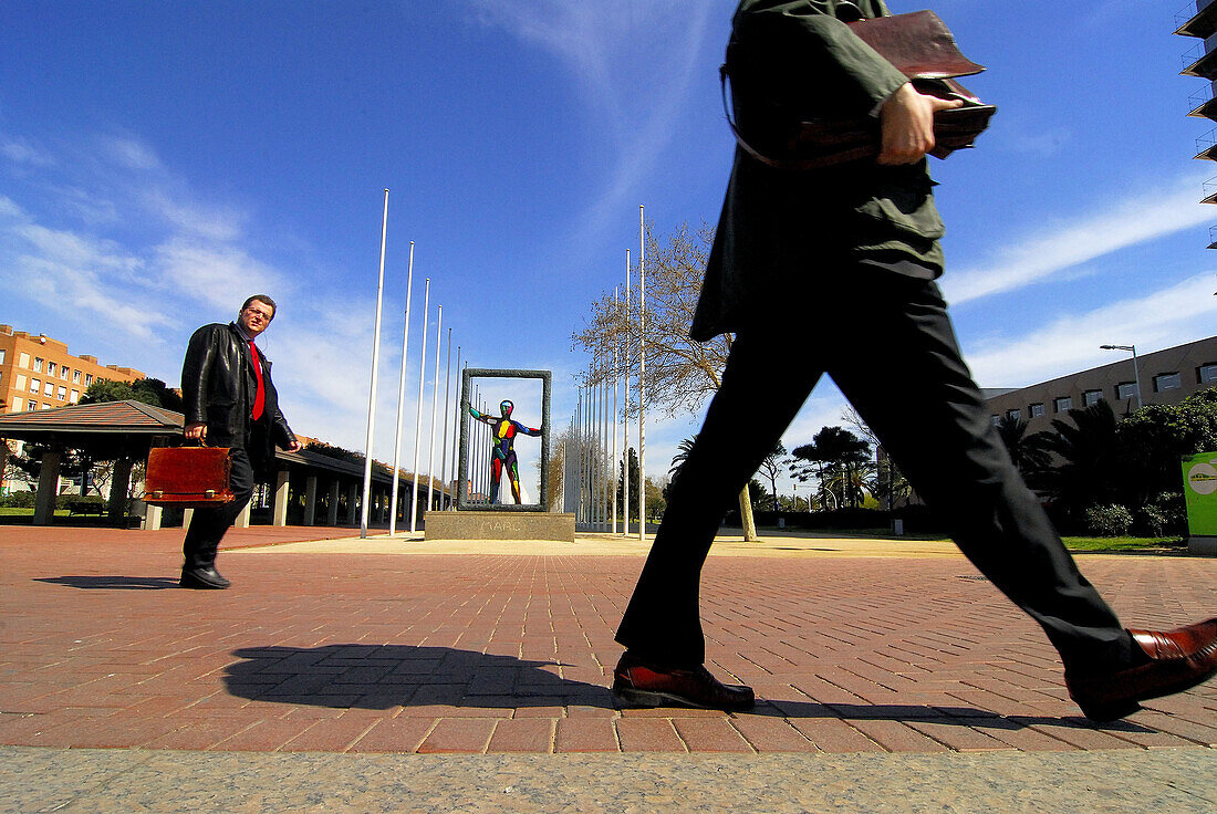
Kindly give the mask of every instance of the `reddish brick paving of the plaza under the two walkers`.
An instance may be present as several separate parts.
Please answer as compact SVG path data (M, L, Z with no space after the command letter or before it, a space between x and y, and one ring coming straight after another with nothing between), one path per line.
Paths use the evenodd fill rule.
M234 532L235 545L318 529ZM277 537L276 537L277 535ZM618 709L633 555L232 550L0 527L0 743L284 752L978 752L1217 745L1217 687L1093 726L1038 629L958 556L712 556L712 668L753 712ZM594 548L594 546L593 546ZM1088 556L1126 624L1217 610L1217 561Z

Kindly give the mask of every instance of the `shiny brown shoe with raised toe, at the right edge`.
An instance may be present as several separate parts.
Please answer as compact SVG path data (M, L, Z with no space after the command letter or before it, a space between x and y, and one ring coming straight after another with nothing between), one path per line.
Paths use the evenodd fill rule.
M1070 696L1092 720L1131 715L1139 701L1183 692L1217 674L1217 618L1177 630L1128 633L1145 653L1133 667L1105 675L1065 674Z

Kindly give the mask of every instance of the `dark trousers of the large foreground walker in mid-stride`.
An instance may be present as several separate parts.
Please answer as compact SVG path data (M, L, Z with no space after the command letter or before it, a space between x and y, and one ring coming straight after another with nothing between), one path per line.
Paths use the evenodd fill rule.
M740 331L617 641L658 666L705 661L699 583L710 545L828 372L918 494L949 521L968 558L1043 627L1066 668L1126 663L1131 640L1010 462L938 287L857 269L848 282L795 293L798 313L768 314Z

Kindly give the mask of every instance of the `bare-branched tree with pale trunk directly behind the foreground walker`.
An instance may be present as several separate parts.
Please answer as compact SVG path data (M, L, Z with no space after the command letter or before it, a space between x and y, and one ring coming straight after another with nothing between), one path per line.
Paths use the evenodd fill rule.
M714 229L705 221L696 232L688 224L680 225L662 246L651 225L646 226L645 404L627 405L627 415L636 415L640 406L669 416L696 412L722 384L735 337L722 333L708 342L689 337L713 241ZM627 314L638 313L636 294L632 292L634 302L626 303L606 292L591 304L583 330L572 337L574 344L600 359L611 358L617 349L624 369L636 371L644 337L638 320L627 319ZM599 375L606 376L607 370ZM747 485L740 493L740 513L745 539L757 539Z

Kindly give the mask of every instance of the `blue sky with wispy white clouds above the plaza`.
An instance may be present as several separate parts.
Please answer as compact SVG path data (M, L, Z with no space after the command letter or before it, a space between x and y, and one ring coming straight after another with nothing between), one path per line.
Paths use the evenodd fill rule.
M1212 123L1185 116L1205 83L1178 75L1196 45L1172 34L1184 1L933 7L999 108L977 150L932 162L942 287L977 381L1210 336L1217 208L1198 201L1217 168L1191 161ZM733 9L6 0L0 322L176 384L190 332L265 291L280 313L260 344L293 428L361 449L389 187L376 456L393 457L410 241L406 465L426 277L432 332L443 304L471 365L553 370L561 425L587 364L570 336L636 257L638 206L661 232L718 214ZM786 445L841 408L825 382ZM655 417L650 472L699 419Z

